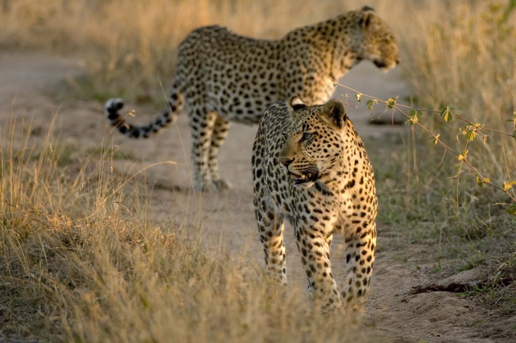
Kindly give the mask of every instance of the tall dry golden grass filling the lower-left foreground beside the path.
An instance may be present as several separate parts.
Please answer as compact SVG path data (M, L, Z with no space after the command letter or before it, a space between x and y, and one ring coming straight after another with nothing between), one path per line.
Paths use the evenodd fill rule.
M112 172L109 153L70 161L52 128L43 141L18 140L23 132L30 128L12 125L0 146L0 338L372 339L323 317L303 291L283 294L244 256L215 257L182 227L155 226L138 184Z

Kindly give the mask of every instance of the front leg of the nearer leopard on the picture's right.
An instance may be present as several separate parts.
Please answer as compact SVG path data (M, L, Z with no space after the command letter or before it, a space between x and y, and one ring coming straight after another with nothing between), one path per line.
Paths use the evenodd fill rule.
M376 252L376 223L346 235L346 283L342 299L346 308L360 309L366 299Z

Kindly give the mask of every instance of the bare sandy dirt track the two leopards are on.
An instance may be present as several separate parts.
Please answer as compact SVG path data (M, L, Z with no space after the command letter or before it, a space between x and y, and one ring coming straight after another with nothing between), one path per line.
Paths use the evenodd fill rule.
M249 260L261 261L263 251L253 215L250 168L256 127L233 125L221 149L221 172L233 188L196 195L190 187L190 135L186 115L181 116L176 125L149 140L135 141L118 133L112 134L106 126L101 103L78 101L61 106L52 96L51 91L57 83L80 73L80 64L73 59L0 51L0 132L5 133L14 113L16 117L33 117L35 132L44 133L57 111L56 127L62 130L63 140L82 150L99 148L103 141L108 146L120 146L131 158L116 161L116 168L124 173L134 173L155 162L173 160L176 165L159 165L147 173L147 190L151 193L156 221L163 223L171 218L174 224L192 231L200 226L207 247L243 253ZM399 70L385 74L366 62L348 73L341 83L380 99L396 95L400 95L399 99L407 99L411 94ZM345 89L337 89L335 95L343 93L354 95ZM349 103L356 104L356 101L349 99ZM127 109L131 108L129 105ZM135 122L147 122L156 113L141 106L136 109ZM370 125L373 117L365 105L360 109L348 106L347 110L366 146L372 139L393 139L407 129L404 125ZM390 122L390 119L386 121ZM0 137L3 139L5 136ZM377 180L379 182L382 181ZM397 235L389 226L380 223L379 250L364 330L372 330L385 341L392 342L493 342L489 338L479 338L482 333L474 326L484 315L456 294L408 294L412 286L443 280L432 279L436 275L430 273L435 260L430 260L429 255L434 247L400 247L396 245ZM342 282L344 263L340 243L336 237L332 245L332 266L337 280ZM306 280L292 230L286 231L286 246L289 282L304 287ZM400 251L402 256L410 257L400 258ZM447 280L473 280L479 272L467 271L449 276Z

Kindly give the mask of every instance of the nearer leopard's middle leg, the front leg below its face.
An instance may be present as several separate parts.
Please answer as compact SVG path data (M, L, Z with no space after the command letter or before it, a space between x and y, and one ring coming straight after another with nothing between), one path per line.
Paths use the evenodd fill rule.
M295 233L301 263L307 273L313 300L321 304L323 313L331 313L342 307L337 284L330 264L331 235L324 234L324 227L296 225Z

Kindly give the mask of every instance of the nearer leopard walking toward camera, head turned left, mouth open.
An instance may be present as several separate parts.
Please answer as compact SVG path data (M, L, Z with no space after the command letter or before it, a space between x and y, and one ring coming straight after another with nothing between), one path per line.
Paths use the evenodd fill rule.
M284 221L322 310L360 308L373 272L378 202L364 144L330 100L307 106L299 97L267 109L252 152L254 210L267 270L286 285ZM347 279L339 292L330 267L334 233L345 236Z

